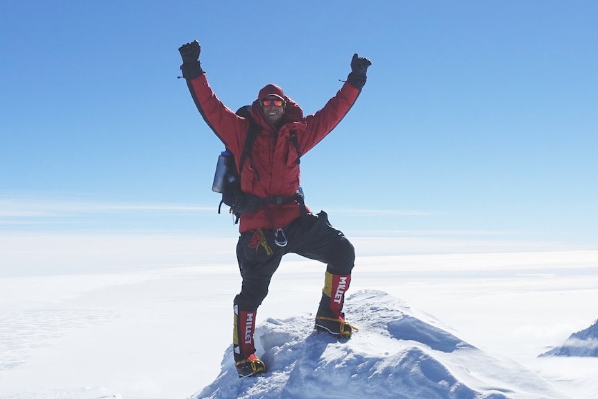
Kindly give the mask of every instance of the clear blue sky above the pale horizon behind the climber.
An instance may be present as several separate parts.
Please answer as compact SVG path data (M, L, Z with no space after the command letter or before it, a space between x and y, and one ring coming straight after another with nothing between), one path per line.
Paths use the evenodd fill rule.
M350 113L302 159L353 235L596 244L595 1L4 1L0 232L235 235L221 143L180 75L197 39L232 109L276 83L305 114L370 58Z

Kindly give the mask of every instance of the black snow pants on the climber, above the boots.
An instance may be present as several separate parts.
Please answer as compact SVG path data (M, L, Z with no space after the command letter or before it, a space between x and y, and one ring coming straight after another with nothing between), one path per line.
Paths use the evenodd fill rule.
M325 212L307 214L285 227L286 246L275 244L272 229L257 229L241 233L237 244L237 260L243 282L234 298L239 310L256 310L268 295L272 276L287 253L296 253L327 264L326 271L334 275L350 275L355 251L343 233L330 226ZM280 241L280 235L279 241Z

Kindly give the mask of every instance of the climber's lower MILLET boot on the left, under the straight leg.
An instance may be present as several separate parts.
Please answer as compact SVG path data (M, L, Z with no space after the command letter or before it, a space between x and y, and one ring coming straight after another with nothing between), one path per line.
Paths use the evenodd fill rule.
M258 375L266 371L264 362L255 355L253 344L256 313L256 310L239 310L239 307L234 305L232 353L239 377Z

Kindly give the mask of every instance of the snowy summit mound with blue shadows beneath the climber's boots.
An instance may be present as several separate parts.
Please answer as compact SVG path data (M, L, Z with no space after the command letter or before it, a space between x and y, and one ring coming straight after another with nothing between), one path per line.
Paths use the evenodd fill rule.
M192 399L565 398L515 362L488 355L436 319L382 291L345 302L349 341L314 332L314 316L268 319L255 330L267 373L239 378L232 346L216 380Z

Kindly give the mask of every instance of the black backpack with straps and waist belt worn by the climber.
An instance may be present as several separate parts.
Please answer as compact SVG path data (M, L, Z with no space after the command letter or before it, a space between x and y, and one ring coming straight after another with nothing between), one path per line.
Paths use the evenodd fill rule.
M305 203L303 201L303 192L301 187L297 190L294 196L274 196L269 198L259 198L253 194L246 194L241 191L241 175L240 171L243 170L243 166L247 158L251 158L251 149L255 143L255 138L259 134L259 125L253 121L250 113L250 106L245 105L244 107L237 110L237 115L250 120L249 128L247 129L247 135L245 143L243 145L243 152L241 153L241 162L237 168L234 162L234 156L228 148L221 154L224 157L225 173L223 176L223 182L221 185L222 199L218 205L218 213L221 211L222 204L230 207L230 213L234 214L234 223L239 223L239 218L244 212L255 212L260 206L266 204L283 204L298 201L300 203L302 212L305 211ZM297 140L297 133L293 130L291 132L291 142L295 146L298 154L297 163L300 163L301 153L299 151L299 142ZM219 169L216 167L216 176L218 176ZM216 180L216 176L214 180ZM259 178L259 177L258 177Z

